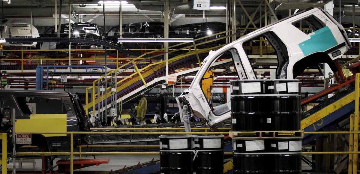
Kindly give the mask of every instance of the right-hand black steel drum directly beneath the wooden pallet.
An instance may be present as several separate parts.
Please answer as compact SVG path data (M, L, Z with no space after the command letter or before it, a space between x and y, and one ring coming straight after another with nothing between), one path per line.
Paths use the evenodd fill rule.
M269 171L273 174L301 173L301 139L278 138L268 139L271 153Z

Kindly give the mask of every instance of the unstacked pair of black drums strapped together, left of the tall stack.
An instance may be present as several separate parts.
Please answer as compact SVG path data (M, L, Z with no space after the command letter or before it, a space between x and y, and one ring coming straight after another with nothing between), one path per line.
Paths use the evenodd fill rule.
M223 173L224 135L161 135L159 139L160 173Z

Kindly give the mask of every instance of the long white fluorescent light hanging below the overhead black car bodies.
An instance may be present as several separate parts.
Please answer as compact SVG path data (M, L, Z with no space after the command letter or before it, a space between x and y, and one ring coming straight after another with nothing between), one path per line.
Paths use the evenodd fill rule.
M193 42L193 38L118 38L118 42L149 42L149 43L183 43L183 42Z

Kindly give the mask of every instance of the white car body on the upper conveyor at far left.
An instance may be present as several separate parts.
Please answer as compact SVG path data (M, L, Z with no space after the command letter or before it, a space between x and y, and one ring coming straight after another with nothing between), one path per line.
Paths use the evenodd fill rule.
M2 34L1 38L36 38L40 37L39 31L29 23L9 23L3 24L1 27ZM4 46L36 46L36 42L27 43L27 42L18 42L18 43L3 43Z

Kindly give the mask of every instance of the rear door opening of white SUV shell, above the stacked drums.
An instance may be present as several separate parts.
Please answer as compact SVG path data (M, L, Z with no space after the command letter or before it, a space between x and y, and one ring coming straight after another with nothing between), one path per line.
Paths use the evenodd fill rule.
M261 43L261 44L260 44ZM289 63L289 55L285 44L272 31L265 33L243 43L244 52L247 54L253 72L261 68L272 68L276 66L275 78L286 79L286 69ZM260 55L262 54L262 57ZM262 58L276 59L277 63L263 63ZM270 72L271 73L271 72ZM264 75L258 73L257 79ZM271 74L270 74L271 77Z

